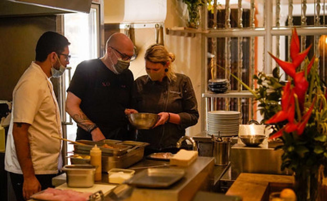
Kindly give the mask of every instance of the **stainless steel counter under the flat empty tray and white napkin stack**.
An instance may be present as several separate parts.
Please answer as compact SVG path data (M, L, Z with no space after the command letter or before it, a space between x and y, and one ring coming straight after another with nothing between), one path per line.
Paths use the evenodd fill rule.
M155 161L144 159L130 168L145 167L152 165L169 164L166 161ZM130 201L190 201L194 195L200 191L210 191L217 179L221 178L224 166L215 166L214 158L212 157L198 157L197 160L187 167L181 166L167 166L166 168L183 168L185 176L173 184L168 189L148 189L148 188L135 188ZM136 173L143 169L135 169ZM60 181L60 182L58 182ZM53 179L53 183L60 185L65 182L65 176L61 175ZM102 181L96 183L108 183L108 174L102 175Z

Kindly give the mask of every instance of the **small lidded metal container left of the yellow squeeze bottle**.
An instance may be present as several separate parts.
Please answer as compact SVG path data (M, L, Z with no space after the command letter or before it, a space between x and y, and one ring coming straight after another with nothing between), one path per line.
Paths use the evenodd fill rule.
M65 165L62 171L67 174L68 187L89 188L94 185L95 167L92 165Z

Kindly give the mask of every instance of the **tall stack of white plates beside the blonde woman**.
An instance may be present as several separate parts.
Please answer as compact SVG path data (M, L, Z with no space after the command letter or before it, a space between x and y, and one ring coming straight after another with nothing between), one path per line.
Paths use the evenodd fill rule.
M207 131L210 135L237 136L240 124L240 112L237 111L209 111Z

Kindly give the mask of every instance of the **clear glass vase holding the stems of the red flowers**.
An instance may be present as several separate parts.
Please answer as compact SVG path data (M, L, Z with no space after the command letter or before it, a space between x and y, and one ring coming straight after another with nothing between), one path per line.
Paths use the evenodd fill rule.
M322 201L323 170L321 168L298 168L294 174L294 191L297 201Z

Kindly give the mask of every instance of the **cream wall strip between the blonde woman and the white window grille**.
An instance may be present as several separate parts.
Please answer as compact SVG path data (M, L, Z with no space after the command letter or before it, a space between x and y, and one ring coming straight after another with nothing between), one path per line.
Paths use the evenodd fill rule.
M167 0L167 16L164 22L165 28L174 26L186 26L187 8L180 0ZM164 35L164 44L167 49L176 55L175 70L190 77L198 100L198 110L201 113L201 38L197 34L195 37ZM198 124L186 130L186 135L194 136L201 132L201 118Z

